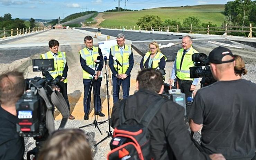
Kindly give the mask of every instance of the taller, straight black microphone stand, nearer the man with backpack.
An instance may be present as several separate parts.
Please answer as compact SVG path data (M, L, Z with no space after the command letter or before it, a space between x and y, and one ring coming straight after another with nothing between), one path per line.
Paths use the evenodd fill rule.
M106 75L106 86L107 86L107 101L108 101L108 119L106 121L100 122L100 124L107 122L108 121L108 135L103 138L102 140L100 140L98 143L94 144L94 146L96 147L98 144L100 144L101 142L103 142L104 140L106 140L109 137L112 137L112 131L110 130L110 109L109 109L109 92L108 92L108 77L107 77L107 61L105 61L105 75Z

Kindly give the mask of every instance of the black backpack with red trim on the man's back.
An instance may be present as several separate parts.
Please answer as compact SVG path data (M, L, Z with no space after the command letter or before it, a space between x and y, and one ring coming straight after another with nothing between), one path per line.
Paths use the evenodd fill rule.
M147 129L151 120L158 113L162 104L166 102L164 98L160 98L157 103L148 107L142 118L125 119L125 100L120 107L120 125L114 129L113 138L110 142L111 151L108 153L108 160L150 160L150 136ZM129 125L128 121L136 122L135 125ZM162 158L165 158L167 151ZM162 159L161 158L161 159Z

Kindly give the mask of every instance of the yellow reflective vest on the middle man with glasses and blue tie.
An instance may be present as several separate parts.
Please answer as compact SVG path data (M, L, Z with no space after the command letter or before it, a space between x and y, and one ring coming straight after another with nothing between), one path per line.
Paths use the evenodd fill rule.
M119 51L118 45L112 46L111 48L111 55L115 56L118 60L118 62L121 63L121 66L118 66L119 71L118 74L125 74L127 69L129 68L129 56L131 55L131 47L125 45L123 56L121 56L121 53ZM114 61L114 67L117 70L117 63Z

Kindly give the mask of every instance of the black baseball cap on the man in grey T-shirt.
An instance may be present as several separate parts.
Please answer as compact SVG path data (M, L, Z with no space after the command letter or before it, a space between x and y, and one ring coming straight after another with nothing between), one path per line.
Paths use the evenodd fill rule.
M232 56L233 59L221 61L221 59L227 55ZM228 48L225 48L225 47L221 47L221 46L214 48L209 54L209 62L214 63L214 64L229 63L229 62L233 62L234 60L235 60L235 58L234 58L234 55L232 54L231 50L229 50Z

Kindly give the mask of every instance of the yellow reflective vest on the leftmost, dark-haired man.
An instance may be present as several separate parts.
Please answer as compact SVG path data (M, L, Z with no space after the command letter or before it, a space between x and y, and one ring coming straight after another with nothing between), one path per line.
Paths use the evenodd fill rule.
M54 59L51 51L48 51L47 53L42 54L40 56L40 58L41 59ZM57 62L54 59L54 68L55 68L55 70L48 71L54 79L58 75L62 76L62 74L64 72L64 68L66 66L66 53L58 51L56 59L57 59ZM64 79L63 82L67 83L67 79Z

